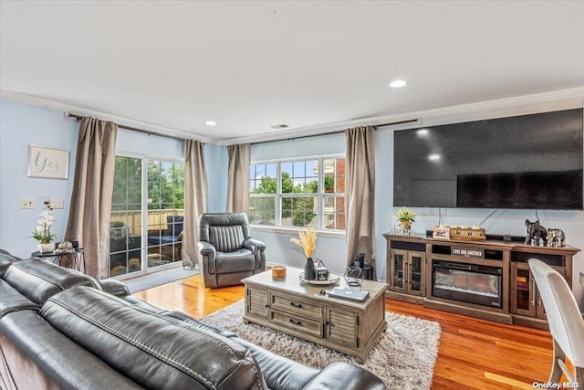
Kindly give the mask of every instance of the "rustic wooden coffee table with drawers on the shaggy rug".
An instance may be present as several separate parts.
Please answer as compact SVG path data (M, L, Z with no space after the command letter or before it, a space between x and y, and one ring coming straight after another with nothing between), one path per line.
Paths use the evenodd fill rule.
M363 280L360 289L370 295L357 302L321 294L323 289L347 287L342 277L336 285L311 285L300 281L300 272L288 267L283 279L272 278L271 271L243 279L244 320L347 353L363 363L387 326L387 284Z

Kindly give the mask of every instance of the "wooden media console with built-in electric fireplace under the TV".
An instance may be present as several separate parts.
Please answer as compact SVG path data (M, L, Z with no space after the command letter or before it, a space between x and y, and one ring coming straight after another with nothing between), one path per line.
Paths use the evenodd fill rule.
M527 265L538 258L572 285L579 248L547 248L516 240L467 241L386 233L386 297L491 321L547 329Z

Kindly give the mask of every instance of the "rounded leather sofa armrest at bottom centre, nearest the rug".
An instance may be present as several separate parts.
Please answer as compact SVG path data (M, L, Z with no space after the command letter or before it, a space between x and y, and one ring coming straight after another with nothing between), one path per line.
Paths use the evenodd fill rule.
M381 379L353 364L335 362L328 364L304 387L304 390L336 389L383 390Z

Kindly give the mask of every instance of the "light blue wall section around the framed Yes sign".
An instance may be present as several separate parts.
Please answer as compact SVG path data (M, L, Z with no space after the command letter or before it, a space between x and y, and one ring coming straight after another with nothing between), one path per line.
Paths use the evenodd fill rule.
M0 248L22 258L36 250L31 232L36 227L43 197L64 199L65 208L55 210L52 233L63 239L75 172L78 122L62 111L48 110L12 100L0 100ZM67 149L68 180L28 177L28 145ZM33 198L34 210L20 208L21 198Z

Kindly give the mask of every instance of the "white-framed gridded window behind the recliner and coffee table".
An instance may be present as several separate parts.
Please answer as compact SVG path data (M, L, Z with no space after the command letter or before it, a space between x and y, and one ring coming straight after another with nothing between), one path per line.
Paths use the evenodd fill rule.
M344 158L254 163L250 182L250 223L345 230Z

